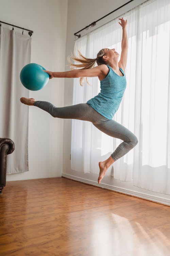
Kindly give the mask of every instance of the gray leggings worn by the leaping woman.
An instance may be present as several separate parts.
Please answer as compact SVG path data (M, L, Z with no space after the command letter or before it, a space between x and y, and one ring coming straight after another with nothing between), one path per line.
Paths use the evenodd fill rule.
M48 101L35 101L34 106L47 111L53 117L89 121L107 135L123 140L111 154L114 161L124 156L138 143L137 137L130 130L115 120L102 116L87 103L57 108Z

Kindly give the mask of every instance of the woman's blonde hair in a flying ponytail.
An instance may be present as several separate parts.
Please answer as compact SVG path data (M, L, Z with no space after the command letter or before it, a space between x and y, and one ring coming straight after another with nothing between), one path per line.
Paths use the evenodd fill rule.
M79 52L79 56L75 55L75 50L74 50L74 54L69 55L68 56L68 62L70 63L68 66L70 66L70 69L90 69L90 68L94 68L95 63L97 62L97 65L102 65L102 64L106 64L106 62L103 59L103 56L105 55L104 49L101 49L98 54L97 54L97 58L96 59L90 59L90 58L86 58L85 56L83 56L81 54L81 52L78 50ZM80 62L81 64L74 64L71 61L71 58L77 62ZM74 68L75 67L75 68ZM80 85L84 86L84 81L83 81L84 77L80 77ZM87 77L86 77L86 81L87 81ZM88 83L88 81L87 81ZM89 84L89 83L88 83ZM89 84L90 85L90 84Z

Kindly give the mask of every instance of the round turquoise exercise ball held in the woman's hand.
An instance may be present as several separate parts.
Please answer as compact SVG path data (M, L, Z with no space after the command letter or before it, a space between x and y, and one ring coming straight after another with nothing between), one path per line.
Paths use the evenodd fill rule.
M42 66L36 63L29 63L20 72L20 80L24 87L31 91L42 89L49 81L50 75L43 70Z

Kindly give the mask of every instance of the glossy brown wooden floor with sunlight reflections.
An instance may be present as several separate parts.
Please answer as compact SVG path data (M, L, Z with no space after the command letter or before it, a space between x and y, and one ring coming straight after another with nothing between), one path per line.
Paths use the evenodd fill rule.
M7 182L0 255L169 256L170 207L63 177Z

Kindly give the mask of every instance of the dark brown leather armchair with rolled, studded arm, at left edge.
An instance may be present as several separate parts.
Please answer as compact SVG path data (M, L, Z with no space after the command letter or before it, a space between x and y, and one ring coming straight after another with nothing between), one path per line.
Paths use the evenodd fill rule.
M0 194L6 185L6 159L15 149L14 142L11 139L0 138Z

